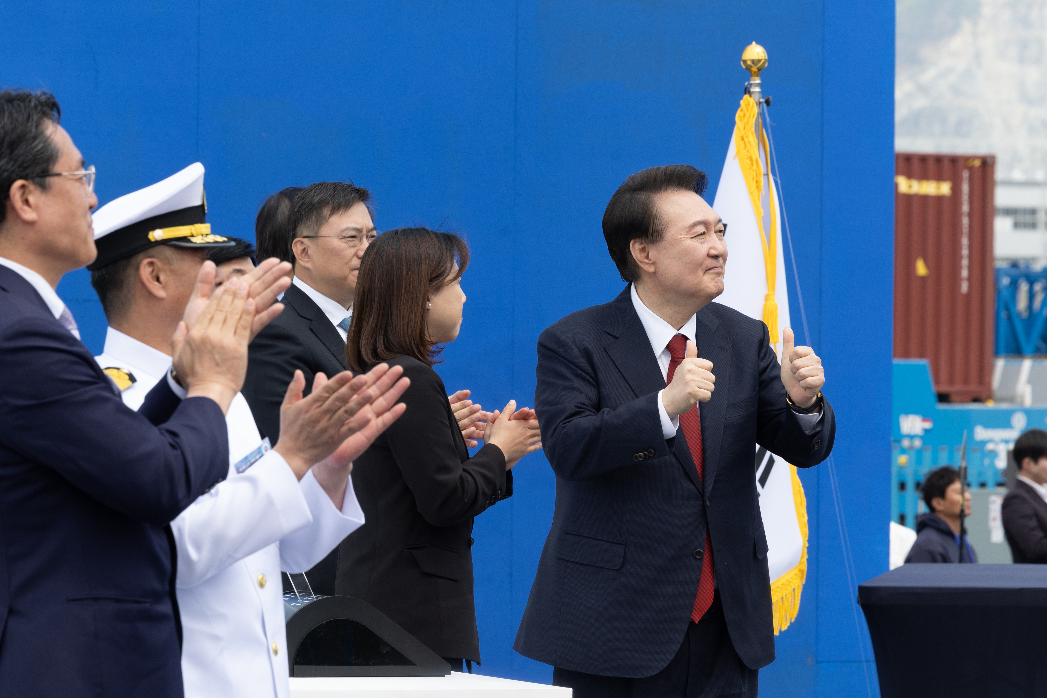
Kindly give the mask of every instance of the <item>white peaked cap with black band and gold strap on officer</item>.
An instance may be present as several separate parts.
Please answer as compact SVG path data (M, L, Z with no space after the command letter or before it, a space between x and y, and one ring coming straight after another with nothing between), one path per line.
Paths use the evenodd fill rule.
M206 222L203 165L194 162L166 179L113 199L94 212L94 270L150 247L228 247L235 244L210 234Z

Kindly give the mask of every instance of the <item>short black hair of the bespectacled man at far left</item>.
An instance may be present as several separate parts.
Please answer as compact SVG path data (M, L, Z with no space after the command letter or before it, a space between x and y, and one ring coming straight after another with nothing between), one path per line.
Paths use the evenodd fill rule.
M50 179L40 175L49 173L62 156L47 125L61 119L62 108L50 92L0 91L0 223L7 215L7 199L16 181L29 179L47 189Z

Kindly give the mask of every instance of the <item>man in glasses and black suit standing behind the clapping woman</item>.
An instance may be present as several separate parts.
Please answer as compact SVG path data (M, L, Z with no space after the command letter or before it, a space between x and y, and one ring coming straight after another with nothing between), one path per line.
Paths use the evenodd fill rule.
M349 368L346 337L352 322L356 278L367 245L378 235L371 192L351 181L320 181L302 190L291 204L289 246L294 281L281 299L287 309L250 346L243 394L262 435L280 437L280 406L295 370L312 385L322 371ZM462 390L448 399L470 446L489 413ZM317 594L333 595L337 550L307 572ZM290 589L288 589L290 590Z

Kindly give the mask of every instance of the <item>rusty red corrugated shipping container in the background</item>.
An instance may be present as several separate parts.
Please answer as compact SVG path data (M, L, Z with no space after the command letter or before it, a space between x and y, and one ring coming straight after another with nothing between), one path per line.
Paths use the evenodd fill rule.
M995 163L895 154L894 355L930 359L943 401L993 397Z

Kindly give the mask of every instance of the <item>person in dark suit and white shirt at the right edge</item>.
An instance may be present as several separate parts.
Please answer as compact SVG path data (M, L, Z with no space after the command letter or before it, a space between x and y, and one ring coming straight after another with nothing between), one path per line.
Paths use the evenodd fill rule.
M1003 498L1003 531L1016 563L1047 564L1047 432L1015 441L1018 481Z

